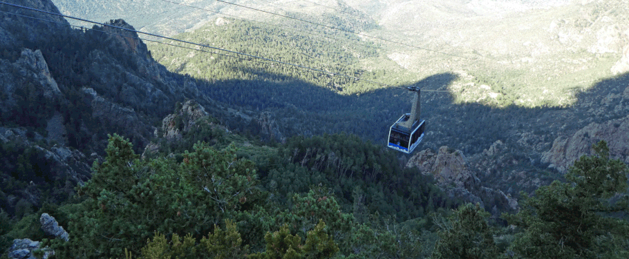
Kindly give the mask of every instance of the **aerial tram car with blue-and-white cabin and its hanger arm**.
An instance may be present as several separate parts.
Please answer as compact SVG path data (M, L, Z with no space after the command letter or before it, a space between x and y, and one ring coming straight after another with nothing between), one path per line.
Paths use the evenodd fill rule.
M424 139L424 131L426 130L426 121L420 118L421 104L420 95L421 88L417 86L399 87L415 92L413 102L411 103L411 113L406 113L397 119L388 132L387 146L404 153L413 153L415 148Z

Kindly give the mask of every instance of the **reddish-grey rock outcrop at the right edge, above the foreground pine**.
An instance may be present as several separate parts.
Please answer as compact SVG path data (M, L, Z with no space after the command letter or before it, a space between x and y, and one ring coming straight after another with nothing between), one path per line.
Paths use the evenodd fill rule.
M628 88L629 89L629 88ZM550 163L550 168L561 173L583 155L592 155L592 144L605 140L610 155L629 163L629 115L612 119L601 124L591 123L570 137L557 137L550 151L542 156L542 162Z

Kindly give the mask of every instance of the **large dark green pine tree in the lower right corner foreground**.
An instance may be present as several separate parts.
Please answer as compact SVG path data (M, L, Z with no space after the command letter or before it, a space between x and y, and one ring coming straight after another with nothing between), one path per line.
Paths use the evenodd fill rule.
M603 141L565 175L567 182L523 195L516 215L503 215L522 233L513 249L525 258L627 258L629 196L626 164L610 160Z

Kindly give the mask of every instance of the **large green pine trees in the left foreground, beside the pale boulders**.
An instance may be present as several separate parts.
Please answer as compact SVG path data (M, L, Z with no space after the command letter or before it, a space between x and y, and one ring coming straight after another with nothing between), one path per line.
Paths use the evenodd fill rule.
M106 161L79 187L82 209L70 215L69 244L58 256L111 257L140 253L153 232L199 240L208 222L238 218L263 200L253 162L236 159L233 146L216 151L205 144L182 162L139 160L129 141L112 135ZM172 239L173 242L176 239ZM157 244L157 243L156 243ZM159 246L158 246L159 247Z

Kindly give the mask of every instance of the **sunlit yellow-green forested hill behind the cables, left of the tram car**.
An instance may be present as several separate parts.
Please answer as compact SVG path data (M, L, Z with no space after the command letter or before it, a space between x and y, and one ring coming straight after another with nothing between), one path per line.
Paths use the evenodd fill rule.
M334 19L334 18L332 18ZM341 23L343 24L343 23ZM295 24L294 26L300 26ZM312 28L308 28L312 30ZM320 28L315 28L320 30ZM339 48L329 41L319 37L294 35L276 26L251 23L240 19L226 19L223 25L209 25L196 30L177 35L179 39L199 43L211 42L213 46L223 46L229 50L246 52L250 55L281 60L292 64L335 70L337 73L355 77L374 77L374 73L360 69L359 57L377 57L378 50L374 44L361 41L354 35L340 35L335 30L323 32L346 39L339 42L344 48ZM355 44L361 41L363 44ZM167 66L169 70L205 80L261 80L271 81L303 81L325 88L348 93L364 92L375 86L364 84L362 81L332 77L310 70L296 70L288 66L276 66L261 62L238 60L221 55L203 52L190 52L182 48L173 48L163 44L149 44L151 53L157 61ZM182 59L182 57L185 57ZM180 62L179 60L185 60Z

